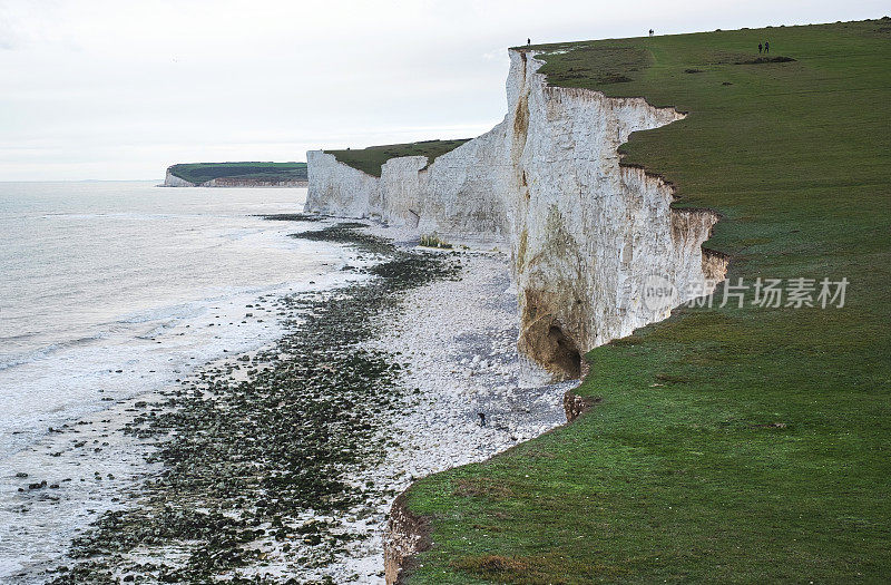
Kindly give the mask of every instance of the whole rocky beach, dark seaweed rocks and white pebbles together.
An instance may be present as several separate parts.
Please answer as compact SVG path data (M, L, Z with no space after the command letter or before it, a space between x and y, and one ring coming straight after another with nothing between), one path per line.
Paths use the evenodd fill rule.
M347 269L368 279L264 300L278 343L137 403L125 431L157 471L48 579L382 583L386 514L412 480L565 421L571 384L517 354L506 257L399 236L295 234L356 248Z

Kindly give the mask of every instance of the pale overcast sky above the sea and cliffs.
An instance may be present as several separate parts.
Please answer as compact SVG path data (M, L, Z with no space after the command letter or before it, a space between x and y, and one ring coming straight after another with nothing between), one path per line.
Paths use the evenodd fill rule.
M479 135L507 47L878 18L887 1L0 0L0 181Z

